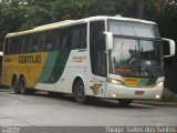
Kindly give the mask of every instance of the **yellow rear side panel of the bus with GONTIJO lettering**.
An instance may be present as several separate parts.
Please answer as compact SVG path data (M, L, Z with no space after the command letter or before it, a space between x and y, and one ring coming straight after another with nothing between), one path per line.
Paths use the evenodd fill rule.
M2 83L10 86L13 74L25 78L27 88L34 88L48 53L25 53L3 57Z

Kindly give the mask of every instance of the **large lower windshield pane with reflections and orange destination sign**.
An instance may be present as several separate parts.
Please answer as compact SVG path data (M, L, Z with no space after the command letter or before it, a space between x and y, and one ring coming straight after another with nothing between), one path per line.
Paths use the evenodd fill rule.
M162 74L160 42L114 38L111 72L121 75L156 76Z

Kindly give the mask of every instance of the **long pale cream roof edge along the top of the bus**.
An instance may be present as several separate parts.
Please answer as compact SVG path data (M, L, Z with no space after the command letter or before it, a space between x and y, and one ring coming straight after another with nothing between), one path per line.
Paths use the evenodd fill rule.
M9 34L6 35L6 38L24 35L24 34L29 34L29 33L35 33L35 32L40 32L40 31L46 31L46 30L55 29L55 28L59 28L59 27L72 25L72 24L76 24L76 23L96 21L96 20L106 20L106 19L119 20L119 21L129 21L129 22L139 22L139 23L147 23L147 24L156 24L155 22L152 22L152 21L133 19L133 18L124 18L124 17L121 17L121 16L117 16L117 17L96 16L96 17L90 17L90 18L80 19L80 20L65 20L65 21L60 21L60 22L55 22L55 23L44 24L44 25L35 27L31 30L9 33Z

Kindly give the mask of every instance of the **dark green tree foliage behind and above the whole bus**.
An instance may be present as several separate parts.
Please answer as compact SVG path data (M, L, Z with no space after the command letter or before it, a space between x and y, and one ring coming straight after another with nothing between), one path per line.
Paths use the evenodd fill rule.
M92 16L138 18L156 21L163 37L177 39L177 0L0 0L0 44L9 32L66 19Z

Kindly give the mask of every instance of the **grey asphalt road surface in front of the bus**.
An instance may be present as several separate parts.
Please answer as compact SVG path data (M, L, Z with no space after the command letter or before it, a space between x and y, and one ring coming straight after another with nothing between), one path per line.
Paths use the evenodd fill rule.
M20 95L0 92L0 126L177 126L177 108L92 100L79 104L73 96L45 92Z

